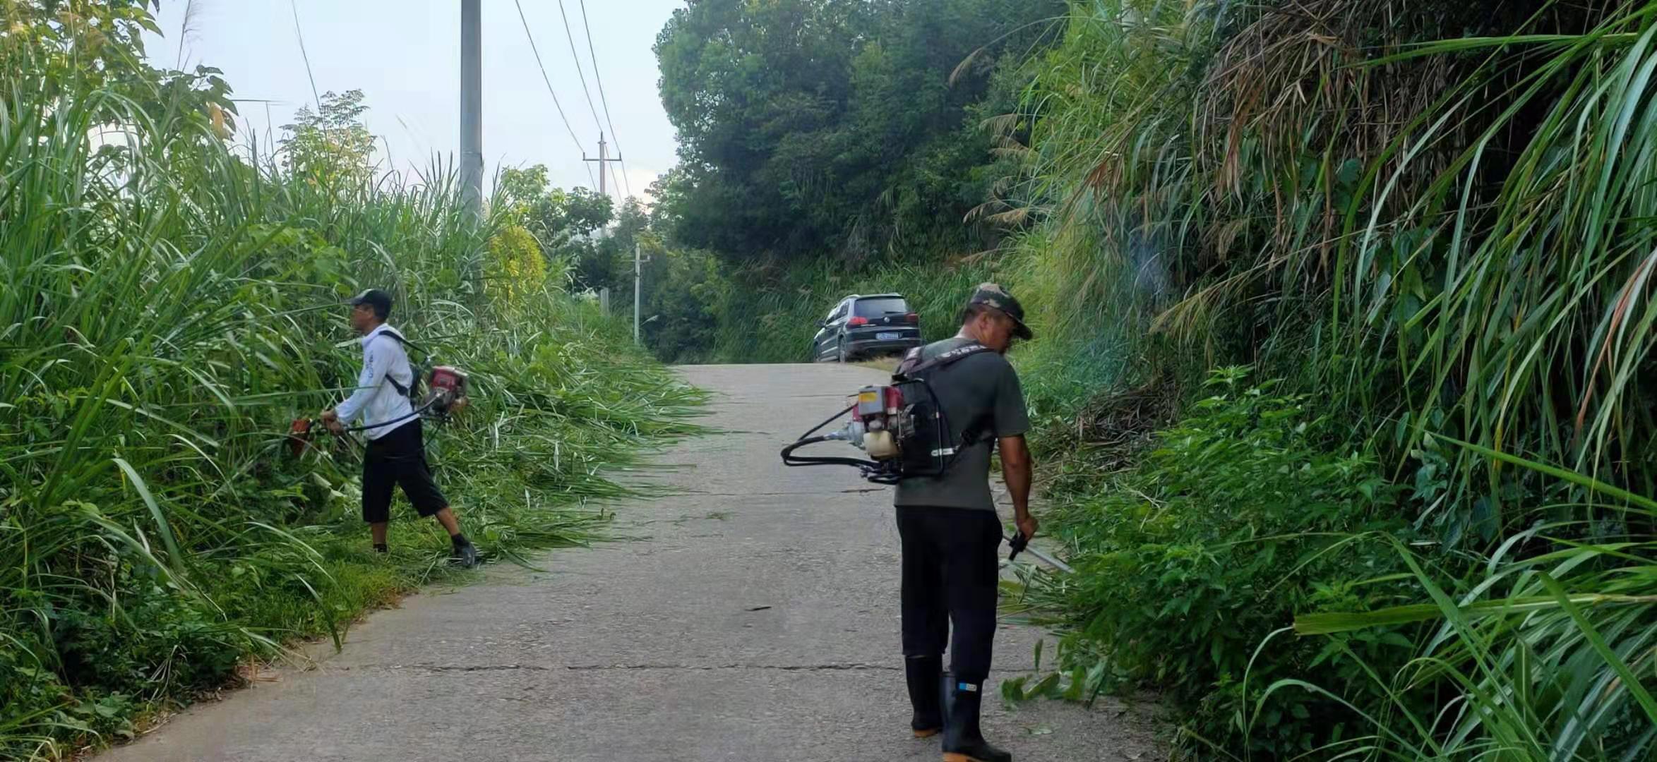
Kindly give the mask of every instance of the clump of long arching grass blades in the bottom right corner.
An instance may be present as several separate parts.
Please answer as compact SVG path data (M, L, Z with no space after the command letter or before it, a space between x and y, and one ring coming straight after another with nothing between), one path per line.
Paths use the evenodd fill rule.
M1634 509L1650 518L1650 509ZM1579 542L1579 527L1538 523L1514 533L1466 590L1445 588L1443 560L1395 552L1425 603L1362 613L1307 613L1301 634L1334 634L1341 658L1390 701L1354 706L1349 687L1279 679L1261 704L1284 696L1332 699L1374 712L1370 732L1321 752L1362 759L1634 760L1657 749L1652 646L1657 643L1657 543L1647 537ZM1551 547L1534 552L1534 547ZM1395 669L1345 644L1352 633L1430 621L1415 656ZM1266 643L1261 648L1276 648ZM1450 696L1423 702L1423 696Z

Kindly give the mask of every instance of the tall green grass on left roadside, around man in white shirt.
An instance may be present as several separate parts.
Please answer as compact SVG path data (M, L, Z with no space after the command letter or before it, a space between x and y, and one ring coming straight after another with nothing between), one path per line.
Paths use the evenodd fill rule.
M147 704L287 639L338 639L444 573L429 522L399 522L391 558L366 552L350 447L285 454L288 422L355 381L345 295L391 290L393 323L472 373L476 404L428 439L490 557L587 542L595 502L628 494L603 469L693 431L699 394L595 308L495 298L481 258L504 220L466 215L452 167L292 177L237 157L177 93L10 84L0 755L131 734ZM109 128L129 139L88 141Z

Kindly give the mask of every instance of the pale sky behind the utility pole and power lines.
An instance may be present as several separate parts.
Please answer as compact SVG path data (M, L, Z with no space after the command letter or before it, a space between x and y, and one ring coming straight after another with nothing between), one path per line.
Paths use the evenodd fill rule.
M290 5L292 2L292 5ZM484 186L500 167L545 164L558 187L597 187L597 164L605 103L593 80L585 2L598 75L610 103L610 156L620 142L621 164L610 164L608 190L618 200L631 187L646 187L674 164L673 126L656 91L651 45L684 0L562 0L593 108L582 91L565 36L560 0L520 0L529 31L547 68L552 89L570 128L558 118L535 55L530 51L514 0L482 0L484 15ZM156 15L164 38L147 35L146 50L157 66L179 63L181 27L187 0L164 0ZM313 104L305 58L316 91L361 89L368 129L383 139L388 167L424 169L432 154L459 152L461 2L459 0L196 0L184 38L184 68L217 66L239 103L239 136L249 128L265 142L267 126L292 123L300 106ZM295 33L293 15L303 31ZM268 113L267 113L268 106ZM315 109L315 106L312 106ZM597 111L597 119L595 113ZM577 146L575 137L583 142Z

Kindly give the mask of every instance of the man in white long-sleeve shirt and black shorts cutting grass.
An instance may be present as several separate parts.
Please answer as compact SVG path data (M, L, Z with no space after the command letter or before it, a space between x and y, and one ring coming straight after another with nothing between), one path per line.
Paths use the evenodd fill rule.
M321 412L323 424L343 434L346 424L363 419L358 427L368 434L363 454L363 520L374 537L374 550L386 552L386 523L391 520L391 490L403 494L423 517L436 517L454 543L454 560L471 568L477 565L477 548L461 533L449 500L431 479L426 442L419 416L408 391L414 384L404 338L386 325L391 295L370 288L351 301L351 330L363 335L363 373L356 391L338 408Z

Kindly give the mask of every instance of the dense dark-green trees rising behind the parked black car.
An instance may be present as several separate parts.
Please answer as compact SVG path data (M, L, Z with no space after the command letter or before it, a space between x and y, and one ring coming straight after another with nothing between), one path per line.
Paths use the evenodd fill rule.
M732 260L981 248L978 128L1059 0L706 0L656 41L674 240ZM1046 23L1044 23L1046 22ZM999 103L998 103L999 101Z

